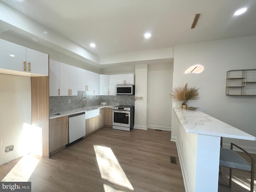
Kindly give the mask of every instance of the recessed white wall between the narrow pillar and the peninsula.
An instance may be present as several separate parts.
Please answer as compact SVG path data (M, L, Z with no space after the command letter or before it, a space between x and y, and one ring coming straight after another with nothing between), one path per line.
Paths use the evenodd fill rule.
M147 127L171 130L172 64L148 65Z

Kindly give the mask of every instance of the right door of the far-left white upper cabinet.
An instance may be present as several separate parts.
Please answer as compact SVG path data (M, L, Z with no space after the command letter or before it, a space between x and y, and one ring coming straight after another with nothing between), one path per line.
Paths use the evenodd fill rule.
M26 48L27 72L48 76L48 55Z

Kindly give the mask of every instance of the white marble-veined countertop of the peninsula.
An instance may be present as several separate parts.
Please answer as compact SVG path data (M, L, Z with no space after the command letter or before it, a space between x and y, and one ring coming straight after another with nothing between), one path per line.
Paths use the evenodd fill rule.
M226 124L199 110L187 110L182 108L173 108L173 110L188 133L256 140L255 136Z

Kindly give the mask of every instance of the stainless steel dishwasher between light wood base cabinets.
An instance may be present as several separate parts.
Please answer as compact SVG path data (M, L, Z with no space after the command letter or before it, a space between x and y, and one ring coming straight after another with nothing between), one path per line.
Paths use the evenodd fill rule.
M85 112L68 116L68 145L85 136Z

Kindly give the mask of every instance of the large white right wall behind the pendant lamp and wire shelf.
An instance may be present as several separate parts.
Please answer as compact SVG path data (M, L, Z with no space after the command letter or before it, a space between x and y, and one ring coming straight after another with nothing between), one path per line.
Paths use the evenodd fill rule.
M184 86L186 82L189 87L200 88L200 99L189 101L188 106L199 107L202 112L256 136L256 96L225 95L228 70L256 68L256 36L193 44L193 55L191 49L191 44L174 48L173 88ZM204 66L204 71L184 74L195 64L194 58L197 64ZM180 102L173 102L174 107L180 105ZM231 141L256 153L255 141L224 138L226 145Z

